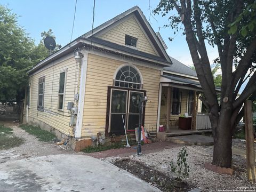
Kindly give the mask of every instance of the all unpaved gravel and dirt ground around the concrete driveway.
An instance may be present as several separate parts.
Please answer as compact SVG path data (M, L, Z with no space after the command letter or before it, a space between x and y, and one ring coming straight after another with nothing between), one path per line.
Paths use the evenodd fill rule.
M171 142L155 142L142 146L142 156L137 156L136 146L131 148L111 149L96 153L75 153L68 146L57 146L54 142L38 141L34 135L30 135L19 128L16 122L1 122L13 129L13 134L25 139L25 143L7 150L0 150L0 163L17 159L29 159L30 157L47 156L55 154L79 154L88 155L107 161L131 172L142 180L157 186L163 191L176 191L170 188L169 180L175 175L171 172L170 161L175 162L182 145ZM244 149L245 143L239 139L234 140L234 146ZM246 159L233 155L234 175L220 175L204 168L205 162L212 161L212 148L203 146L188 146L188 164L190 168L188 187L181 191L223 191L251 189L256 191L255 186L247 182ZM180 190L178 190L180 191Z

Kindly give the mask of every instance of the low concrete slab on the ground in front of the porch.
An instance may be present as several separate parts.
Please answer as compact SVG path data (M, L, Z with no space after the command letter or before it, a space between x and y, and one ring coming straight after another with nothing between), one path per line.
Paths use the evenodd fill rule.
M166 141L171 141L179 144L186 145L200 145L200 146L211 146L213 145L213 138L203 135L183 135L179 137L168 137Z

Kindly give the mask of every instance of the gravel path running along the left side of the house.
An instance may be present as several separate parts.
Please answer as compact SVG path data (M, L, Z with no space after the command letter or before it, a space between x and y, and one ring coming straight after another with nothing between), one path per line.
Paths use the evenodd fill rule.
M12 128L15 136L25 139L24 144L18 147L0 150L0 163L30 157L75 153L68 146L57 146L54 142L38 141L34 135L22 130L19 127L19 123L0 121L0 124L4 124L5 126Z

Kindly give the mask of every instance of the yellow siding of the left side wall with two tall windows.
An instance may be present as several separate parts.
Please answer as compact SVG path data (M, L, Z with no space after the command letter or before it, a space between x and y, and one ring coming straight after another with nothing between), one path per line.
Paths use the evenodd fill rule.
M60 111L58 110L59 78L60 73L64 70L67 73L63 103L64 110ZM70 101L74 102L78 74L79 64L75 62L74 58L70 58L59 63L54 63L54 66L44 69L35 75L31 75L29 78L31 82L29 118L42 121L67 135L73 134L73 130L69 126L70 117L67 110L67 103ZM53 113L37 110L38 78L43 76L45 76L44 110Z

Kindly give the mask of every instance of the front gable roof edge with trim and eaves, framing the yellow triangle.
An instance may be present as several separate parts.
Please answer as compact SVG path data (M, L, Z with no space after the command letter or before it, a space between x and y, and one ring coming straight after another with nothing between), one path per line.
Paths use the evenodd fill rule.
M124 20L126 17L129 17L129 15L135 15L135 17L139 20L140 25L143 27L143 30L150 38L151 42L153 43L158 55L153 55L141 51L132 50L129 47L125 47L122 45L118 45L116 43L111 43L104 41L103 39L97 38L97 34L102 33L104 30L109 30L111 27L115 25L116 22ZM111 50L110 52L115 54L117 51L121 51L123 55L127 55L129 57L138 57L138 59L143 61L148 61L151 63L158 63L162 66L171 66L172 61L165 52L165 49L163 47L163 44L155 34L153 28L150 26L149 22L145 18L145 15L143 15L142 11L138 6L134 6L131 9L117 15L113 19L110 19L109 21L103 23L102 25L96 27L92 30L85 33L84 35L76 38L73 42L67 44L66 46L63 46L59 51L53 53L49 57L45 58L41 62L37 63L36 66L34 66L32 69L28 71L28 73L33 73L37 69L49 64L50 62L57 60L63 55L66 55L68 53L73 52L76 47L91 45L95 47L99 47L100 49L105 50ZM103 48L102 48L103 47ZM114 51L113 51L114 50Z

